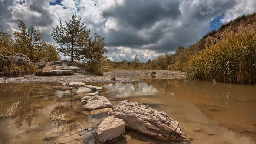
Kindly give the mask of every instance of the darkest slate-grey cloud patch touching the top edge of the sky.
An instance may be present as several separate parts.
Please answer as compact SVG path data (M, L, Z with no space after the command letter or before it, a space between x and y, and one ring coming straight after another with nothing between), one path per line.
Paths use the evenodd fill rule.
M117 18L123 26L137 29L151 27L164 18L175 19L180 15L178 0L125 0L123 4L103 11L105 18Z

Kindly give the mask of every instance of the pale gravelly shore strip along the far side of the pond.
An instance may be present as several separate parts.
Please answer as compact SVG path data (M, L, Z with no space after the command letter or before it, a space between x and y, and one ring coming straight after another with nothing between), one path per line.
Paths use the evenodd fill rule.
M165 71L165 70L154 70L157 76L181 76L184 75L183 72ZM116 70L110 69L108 72L104 73L104 76L95 75L81 75L75 73L72 76L35 76L26 75L24 77L14 77L14 78L0 78L0 83L36 83L36 82L69 82L69 81L81 81L81 82L134 82L138 79L131 79L128 77L133 76L151 76L152 70ZM116 81L110 80L110 78L115 75Z

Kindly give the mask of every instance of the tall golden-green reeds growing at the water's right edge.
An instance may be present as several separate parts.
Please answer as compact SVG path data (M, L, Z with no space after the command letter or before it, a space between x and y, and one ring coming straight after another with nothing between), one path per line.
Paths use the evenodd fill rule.
M200 51L185 65L190 79L256 84L256 35L230 34Z

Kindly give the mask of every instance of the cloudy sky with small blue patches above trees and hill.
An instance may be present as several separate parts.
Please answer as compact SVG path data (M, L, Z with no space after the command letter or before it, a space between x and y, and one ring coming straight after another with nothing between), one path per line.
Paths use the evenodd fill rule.
M254 12L256 0L0 0L0 26L12 33L23 20L54 42L52 27L76 13L92 33L107 37L108 59L138 54L146 62Z

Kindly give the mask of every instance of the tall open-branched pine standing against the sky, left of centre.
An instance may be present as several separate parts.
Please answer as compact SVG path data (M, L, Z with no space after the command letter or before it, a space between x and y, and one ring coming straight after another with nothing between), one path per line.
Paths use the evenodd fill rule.
M65 20L65 23L59 21L59 26L53 28L51 36L59 43L58 50L64 56L70 56L71 62L74 59L79 60L79 49L82 48L81 41L89 38L90 30L85 30L85 22L81 22L81 18L77 19L76 14L72 15L71 20Z

